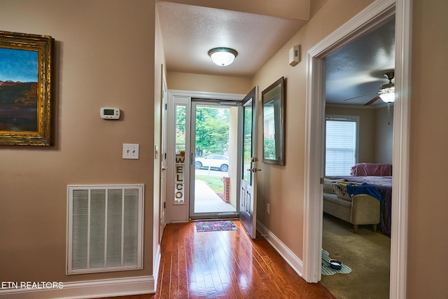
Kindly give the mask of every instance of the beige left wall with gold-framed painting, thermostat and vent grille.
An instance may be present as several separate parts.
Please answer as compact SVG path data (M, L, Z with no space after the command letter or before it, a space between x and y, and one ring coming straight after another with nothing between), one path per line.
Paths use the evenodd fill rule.
M55 41L55 146L0 147L0 281L152 274L154 1L2 0L1 30ZM116 106L120 120L99 118ZM140 144L123 160L123 143ZM66 276L66 186L145 184L144 270Z

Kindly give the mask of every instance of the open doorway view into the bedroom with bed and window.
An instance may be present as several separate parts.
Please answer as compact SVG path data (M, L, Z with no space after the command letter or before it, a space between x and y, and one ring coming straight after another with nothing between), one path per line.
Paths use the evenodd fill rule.
M378 42L379 37L382 39L381 46ZM395 20L389 18L381 26L325 57L325 86L327 87L323 148L325 179L342 179L369 184L383 183L379 177L374 179L374 176L353 175L356 175L358 166L368 164L372 167L381 167L381 165L392 164L393 104L382 102L377 97L377 91L382 84L387 83L387 79L383 76L384 72L395 68L394 39ZM366 48L370 52L366 53ZM366 57L378 57L378 54L375 54L378 51L383 51L383 55L384 52L386 53L381 62L376 60L372 64L371 61L365 60ZM340 65L344 57L350 57L350 65ZM353 70L354 67L357 70ZM336 70L337 75L335 75ZM351 83L355 81L355 75L360 73L367 76L368 79L365 81L368 83L363 83L363 86L354 94L347 92L342 99L343 104L339 104L341 99L337 99L335 90L341 87L335 87L335 82L344 78L346 83ZM356 84L360 85L358 82L353 83L353 86ZM371 91L362 90L363 88ZM363 163L358 165L357 163L360 162ZM382 174L378 173L376 176L382 176ZM386 180L391 186L391 171L387 176ZM342 200L341 197L344 196L341 193L328 195L330 191L325 190L325 185L323 192L321 283L338 298L339 296L388 298L391 258L390 200L381 196L379 199L369 197L372 207L365 208L363 211L371 216L365 218L366 222L360 221L360 223L369 224L353 225L352 223L358 223L357 219L360 218L360 214L357 214L357 210L353 208L357 204L358 197L350 197L353 200L349 202ZM383 197L385 192L381 190ZM389 195L391 196L391 192ZM333 197L337 203L332 202ZM342 206L344 203L346 207ZM369 217L375 219L369 220ZM325 268L329 265L324 262L330 258L342 261L350 273L329 275ZM366 263L366 260L369 263Z

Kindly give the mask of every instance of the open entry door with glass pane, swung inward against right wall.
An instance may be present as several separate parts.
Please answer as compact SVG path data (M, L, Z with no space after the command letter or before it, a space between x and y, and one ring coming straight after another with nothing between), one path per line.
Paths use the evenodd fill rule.
M241 189L239 198L239 218L252 239L256 235L257 211L257 179L256 175L261 169L257 168L257 111L258 86L244 97L243 107L243 134L241 151Z

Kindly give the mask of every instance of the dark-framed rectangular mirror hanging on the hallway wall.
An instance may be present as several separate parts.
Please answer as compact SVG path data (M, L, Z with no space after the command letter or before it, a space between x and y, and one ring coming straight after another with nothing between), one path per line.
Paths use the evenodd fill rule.
M261 92L263 119L262 162L285 165L285 78Z

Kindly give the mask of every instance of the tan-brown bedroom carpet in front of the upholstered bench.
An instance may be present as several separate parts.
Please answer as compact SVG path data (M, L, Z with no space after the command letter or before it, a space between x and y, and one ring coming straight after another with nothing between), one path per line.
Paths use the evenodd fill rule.
M391 239L372 225L353 225L324 214L322 246L331 258L351 268L350 274L322 275L321 284L336 298L389 298Z

